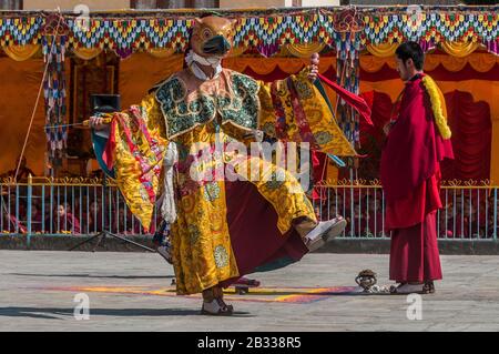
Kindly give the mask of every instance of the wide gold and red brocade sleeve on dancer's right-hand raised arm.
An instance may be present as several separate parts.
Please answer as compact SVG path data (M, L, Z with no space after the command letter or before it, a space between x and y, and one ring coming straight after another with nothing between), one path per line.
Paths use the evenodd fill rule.
M307 70L272 83L259 81L259 130L281 141L308 142L313 150L340 156L357 153L336 123L328 101Z

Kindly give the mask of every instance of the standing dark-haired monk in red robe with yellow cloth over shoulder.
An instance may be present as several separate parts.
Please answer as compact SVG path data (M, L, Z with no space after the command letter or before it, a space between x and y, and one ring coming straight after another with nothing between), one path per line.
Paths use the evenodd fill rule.
M406 42L396 51L397 70L406 82L398 114L385 127L381 182L386 227L391 233L393 293L432 293L441 280L437 242L440 162L454 159L446 105L435 81L422 72L424 52Z

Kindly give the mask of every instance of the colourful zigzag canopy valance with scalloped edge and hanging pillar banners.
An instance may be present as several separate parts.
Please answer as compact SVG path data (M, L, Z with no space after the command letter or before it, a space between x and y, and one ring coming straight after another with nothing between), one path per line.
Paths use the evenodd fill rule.
M54 156L64 149L67 139L63 62L68 52L85 60L103 50L114 51L122 59L134 52L159 58L182 53L189 47L194 19L216 11L236 20L233 57L258 53L267 58L307 58L313 52L336 53L338 83L358 93L360 67L366 70L367 64L383 65L383 59L393 57L398 43L406 40L418 41L426 51L438 49L451 58L464 59L476 50L499 55L498 10L499 6L128 10L91 12L88 18L72 12L0 11L0 45L18 61L41 50L49 63L43 82L45 133ZM360 52L376 59L366 64L359 60ZM349 140L358 143L357 114L346 107L337 113ZM499 171L496 174L499 176Z

